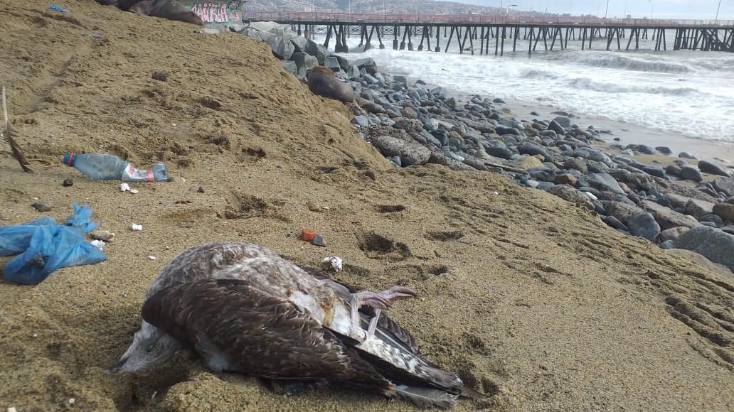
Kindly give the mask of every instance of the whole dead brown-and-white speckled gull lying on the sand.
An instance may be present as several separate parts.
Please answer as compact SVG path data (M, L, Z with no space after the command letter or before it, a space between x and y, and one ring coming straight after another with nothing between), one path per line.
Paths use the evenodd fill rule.
M421 356L381 314L415 292L355 293L263 246L208 243L183 251L153 280L142 328L113 370L159 364L181 347L214 371L351 383L424 407L448 408L462 381Z

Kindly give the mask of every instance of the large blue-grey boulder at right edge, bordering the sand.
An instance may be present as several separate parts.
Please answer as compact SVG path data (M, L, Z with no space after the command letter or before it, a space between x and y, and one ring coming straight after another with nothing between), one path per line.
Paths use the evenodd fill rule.
M734 270L734 236L708 226L697 226L673 240L676 249L695 251L712 262Z

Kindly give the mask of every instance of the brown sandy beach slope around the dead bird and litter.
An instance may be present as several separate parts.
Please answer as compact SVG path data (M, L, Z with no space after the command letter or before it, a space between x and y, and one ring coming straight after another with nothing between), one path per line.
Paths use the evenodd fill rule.
M87 203L117 236L106 262L36 287L0 283L0 408L412 409L341 389L283 397L252 378L210 374L188 353L137 374L106 372L168 260L241 240L303 264L337 254L338 278L358 288L418 290L393 317L432 361L487 394L457 411L734 409L731 282L493 174L390 170L355 138L349 111L310 95L266 45L92 1L65 1L70 15L46 5L0 3L0 84L36 171L23 174L3 147L0 224L40 216L30 207L38 197L59 219L71 202ZM168 81L154 81L156 70ZM141 168L162 160L175 181L121 193L59 164L64 150ZM68 177L74 185L62 187ZM131 232L132 222L144 230ZM327 249L298 240L302 226L318 228Z

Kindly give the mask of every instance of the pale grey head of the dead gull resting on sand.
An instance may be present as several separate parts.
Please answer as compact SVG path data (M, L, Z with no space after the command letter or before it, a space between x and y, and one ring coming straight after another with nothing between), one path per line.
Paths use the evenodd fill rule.
M133 342L115 365L109 368L112 373L134 372L138 369L162 364L181 350L178 342L170 334L143 320L142 327L135 332Z

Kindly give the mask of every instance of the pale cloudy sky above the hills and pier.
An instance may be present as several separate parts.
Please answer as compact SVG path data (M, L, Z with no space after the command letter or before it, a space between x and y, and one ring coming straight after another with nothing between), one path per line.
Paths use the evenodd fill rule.
M519 10L544 11L566 13L574 15L597 14L604 16L606 0L458 0L464 3L481 4L483 6L507 7L517 4ZM734 0L721 0L722 9L719 19L734 20ZM650 17L653 12L655 18L698 18L711 19L716 16L716 6L719 0L627 0L627 14L633 18ZM651 7L652 10L651 10ZM625 0L609 0L608 17L623 17L625 14Z

